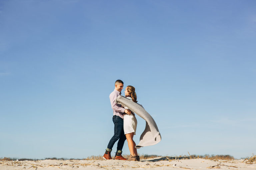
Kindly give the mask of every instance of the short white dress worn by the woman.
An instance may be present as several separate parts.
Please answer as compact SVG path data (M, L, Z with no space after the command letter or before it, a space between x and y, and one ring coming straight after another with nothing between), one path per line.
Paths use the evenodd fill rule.
M127 99L132 100L131 97L127 97ZM128 109L127 107L124 107L125 109ZM134 113L128 115L124 114L124 134L132 133L136 134L136 128L137 128L137 119L135 118Z

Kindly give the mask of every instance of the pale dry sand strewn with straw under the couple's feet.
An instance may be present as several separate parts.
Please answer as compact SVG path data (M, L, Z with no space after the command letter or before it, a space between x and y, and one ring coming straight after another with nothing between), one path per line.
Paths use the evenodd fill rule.
M256 170L256 163L247 164L243 160L208 160L208 159L180 159L168 160L166 157L135 161L122 160L38 160L38 161L0 161L0 170L59 170L59 169L245 169Z

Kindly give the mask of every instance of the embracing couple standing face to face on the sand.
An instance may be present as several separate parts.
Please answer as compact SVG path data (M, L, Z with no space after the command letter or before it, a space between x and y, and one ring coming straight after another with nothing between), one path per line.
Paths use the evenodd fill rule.
M114 136L110 139L103 158L112 159L110 153L115 142L118 140L117 151L114 159L140 161L137 149L135 148L136 144L133 141L133 135L135 135L137 127L135 114L128 108L115 103L116 98L121 95L123 86L124 82L122 80L116 80L115 90L109 95L111 107L113 109ZM137 96L133 86L127 86L124 94L127 99L137 103ZM127 139L129 150L131 152L128 159L122 156L122 148L124 146L125 139Z

